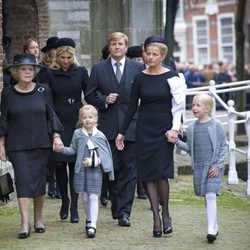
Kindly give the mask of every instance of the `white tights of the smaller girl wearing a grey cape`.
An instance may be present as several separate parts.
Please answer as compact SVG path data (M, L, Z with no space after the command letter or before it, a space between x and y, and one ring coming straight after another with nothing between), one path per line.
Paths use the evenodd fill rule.
M90 221L86 226L96 228L98 218L98 195L82 193L82 205L86 215L86 221Z

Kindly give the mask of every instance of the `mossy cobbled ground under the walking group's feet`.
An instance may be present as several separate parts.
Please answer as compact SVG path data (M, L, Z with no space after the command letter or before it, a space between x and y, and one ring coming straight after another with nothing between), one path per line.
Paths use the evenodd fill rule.
M245 160L245 156L237 155L238 162ZM176 172L177 169L179 172L183 172L183 169L190 171L190 157L187 154L176 154L175 161ZM206 241L204 200L194 195L192 176L178 175L171 180L170 185L170 212L174 231L169 236L152 237L152 212L148 200L135 198L129 228L118 226L117 221L111 218L110 204L107 207L100 206L96 238L88 239L84 232L81 199L80 222L71 224L59 219L60 200L46 197L46 232L36 234L32 229L31 237L18 240L20 215L17 200L13 198L13 201L0 206L0 249L250 249L250 196L245 195L245 182L227 185L227 176L224 177L222 196L218 198L220 233L214 244Z

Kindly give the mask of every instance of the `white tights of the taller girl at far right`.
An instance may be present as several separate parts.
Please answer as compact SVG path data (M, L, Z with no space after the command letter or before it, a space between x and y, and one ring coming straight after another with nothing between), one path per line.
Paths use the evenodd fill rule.
M205 199L207 213L207 233L215 235L218 231L216 194L208 193L206 194Z

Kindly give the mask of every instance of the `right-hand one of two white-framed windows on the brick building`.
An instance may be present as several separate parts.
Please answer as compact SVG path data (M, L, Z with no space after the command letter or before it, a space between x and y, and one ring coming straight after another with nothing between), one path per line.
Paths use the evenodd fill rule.
M235 62L234 18L233 14L218 16L218 51L220 60Z

